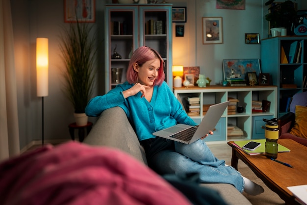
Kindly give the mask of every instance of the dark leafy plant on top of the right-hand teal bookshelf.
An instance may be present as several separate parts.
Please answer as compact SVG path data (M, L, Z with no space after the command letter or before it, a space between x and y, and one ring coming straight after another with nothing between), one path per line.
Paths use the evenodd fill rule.
M287 33L291 31L291 24L296 16L294 3L291 0L284 2L274 2L268 0L265 5L269 6L269 13L265 15L265 20L270 22L270 28L287 28Z

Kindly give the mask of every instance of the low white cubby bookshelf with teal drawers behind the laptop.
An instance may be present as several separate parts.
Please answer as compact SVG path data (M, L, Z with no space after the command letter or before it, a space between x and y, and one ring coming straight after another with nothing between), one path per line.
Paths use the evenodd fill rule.
M222 103L228 99L237 99L236 105L243 106L244 111L239 113L225 110L215 127L214 134L204 140L209 143L221 143L231 140L264 139L265 122L262 120L277 117L277 86L218 86L210 85L205 88L181 87L173 88L176 98L185 108L187 98L199 98L200 111L198 115L190 116L196 123L200 123L210 104ZM267 112L253 112L253 101L270 101ZM187 110L186 110L187 111ZM188 112L188 111L187 111ZM229 126L231 125L231 126ZM239 128L243 131L241 136L230 136L230 128ZM228 133L229 132L229 133Z

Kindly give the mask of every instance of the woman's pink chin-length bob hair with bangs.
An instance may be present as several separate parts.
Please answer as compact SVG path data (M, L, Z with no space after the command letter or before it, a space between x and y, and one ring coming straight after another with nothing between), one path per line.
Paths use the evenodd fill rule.
M139 66L142 66L145 62L156 58L160 60L160 68L158 76L154 80L154 85L161 85L165 78L165 62L157 51L147 46L139 47L133 52L127 70L127 81L131 84L138 81L137 73L133 69L133 63L137 63Z

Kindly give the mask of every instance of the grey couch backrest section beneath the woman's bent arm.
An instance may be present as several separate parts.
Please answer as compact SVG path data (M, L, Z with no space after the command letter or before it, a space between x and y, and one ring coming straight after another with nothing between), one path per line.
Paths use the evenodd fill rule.
M120 107L104 110L83 142L120 149L147 164L144 149Z

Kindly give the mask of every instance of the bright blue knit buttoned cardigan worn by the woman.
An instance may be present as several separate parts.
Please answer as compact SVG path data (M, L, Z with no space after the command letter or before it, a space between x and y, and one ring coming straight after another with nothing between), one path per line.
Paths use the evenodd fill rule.
M125 111L140 141L154 138L153 132L178 123L197 125L182 109L166 82L161 86L154 86L151 102L141 98L141 92L125 99L123 91L132 86L133 84L125 82L107 94L91 99L85 108L86 115L97 117L103 110L119 106Z

